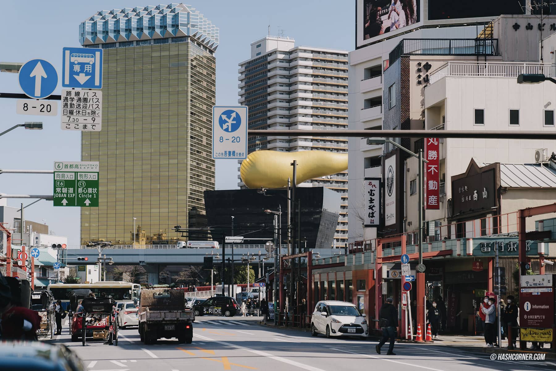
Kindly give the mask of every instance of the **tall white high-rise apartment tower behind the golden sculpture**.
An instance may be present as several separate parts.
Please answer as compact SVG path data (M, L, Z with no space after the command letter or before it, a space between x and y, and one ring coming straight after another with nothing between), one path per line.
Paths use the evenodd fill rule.
M347 138L312 137L311 130L347 128L347 51L295 46L289 37L265 36L251 43L239 63L239 100L249 107L250 130L306 130L302 137L250 137L248 151L320 150L347 153ZM241 163L241 162L240 162ZM239 186L245 187L241 182ZM347 243L347 171L303 182L341 194L334 241Z

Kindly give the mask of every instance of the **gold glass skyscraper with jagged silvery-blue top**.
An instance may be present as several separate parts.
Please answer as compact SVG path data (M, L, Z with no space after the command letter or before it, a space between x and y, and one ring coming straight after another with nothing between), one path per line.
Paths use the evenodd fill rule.
M126 28L127 27L127 28ZM80 27L101 47L102 131L83 132L100 162L99 206L81 209L81 241L171 243L214 190L212 106L218 29L183 4L101 11ZM136 230L133 231L134 218Z

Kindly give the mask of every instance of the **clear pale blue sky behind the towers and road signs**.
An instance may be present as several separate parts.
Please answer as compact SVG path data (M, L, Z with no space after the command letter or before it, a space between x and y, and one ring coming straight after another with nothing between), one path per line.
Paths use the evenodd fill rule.
M157 5L147 0L2 2L0 61L27 62L42 58L61 74L62 48L79 46L78 27L102 9ZM216 103L237 104L237 63L250 57L250 44L268 33L295 38L296 45L353 50L355 2L353 0L195 0L187 2L220 28L216 51ZM59 80L59 79L58 79ZM0 91L21 92L17 74L0 73ZM57 93L61 91L58 85ZM58 110L59 111L59 110ZM42 131L17 128L0 137L0 169L52 170L54 161L80 161L80 132L60 129L60 116L16 114L16 100L0 99L0 131L25 121L42 121ZM101 170L102 171L102 170ZM101 173L102 174L102 173ZM102 175L101 175L102 176ZM216 161L216 189L237 188L237 162ZM52 194L52 175L0 175L0 192ZM8 206L32 201L9 199ZM25 218L46 219L53 234L68 236L77 246L80 238L78 207L53 207L39 201L26 209ZM131 227L131 226L130 226Z

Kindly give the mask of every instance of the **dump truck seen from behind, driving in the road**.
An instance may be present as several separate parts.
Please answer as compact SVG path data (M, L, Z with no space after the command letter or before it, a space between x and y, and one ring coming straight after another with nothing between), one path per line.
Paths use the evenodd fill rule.
M193 341L193 310L185 307L181 289L157 288L141 290L139 301L139 334L141 342L152 344L160 338L176 338L179 343Z

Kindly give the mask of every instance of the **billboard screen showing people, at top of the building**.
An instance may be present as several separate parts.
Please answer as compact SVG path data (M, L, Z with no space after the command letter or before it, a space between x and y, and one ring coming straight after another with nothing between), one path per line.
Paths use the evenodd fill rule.
M420 21L420 0L358 0L357 46Z

